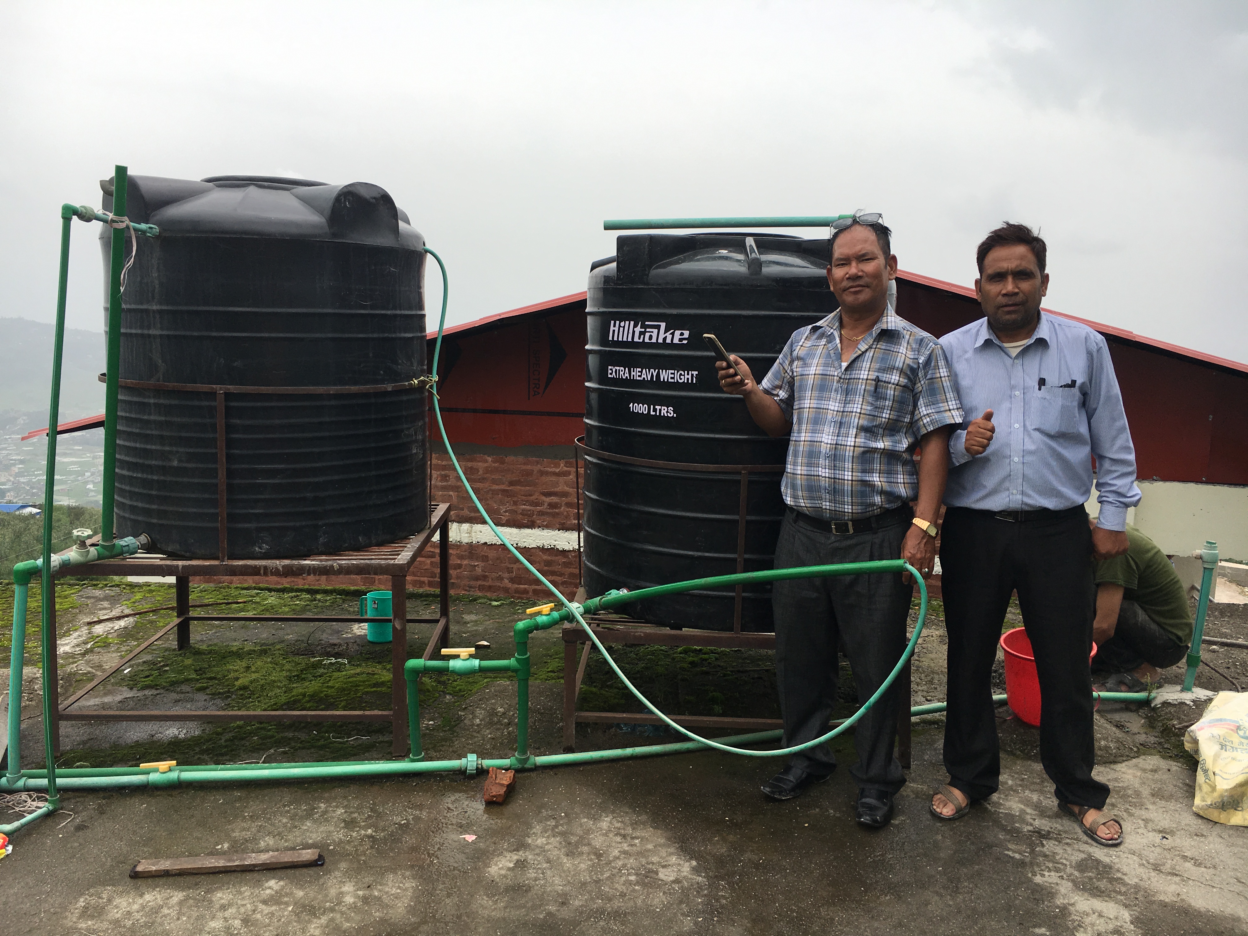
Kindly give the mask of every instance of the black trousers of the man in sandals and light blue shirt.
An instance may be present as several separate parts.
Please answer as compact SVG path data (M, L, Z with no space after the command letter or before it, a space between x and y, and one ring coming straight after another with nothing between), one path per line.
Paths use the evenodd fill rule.
M1092 779L1092 530L1082 508L1002 520L951 507L941 529L941 588L948 630L945 768L971 799L997 791L1001 748L992 664L1010 595L1040 675L1040 760L1062 802L1101 809L1109 787Z

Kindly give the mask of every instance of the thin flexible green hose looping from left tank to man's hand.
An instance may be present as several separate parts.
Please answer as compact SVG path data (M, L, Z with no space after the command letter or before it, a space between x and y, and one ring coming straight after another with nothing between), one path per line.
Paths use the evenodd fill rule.
M663 721L663 724L665 724L673 731L684 735L691 741L698 741L700 744L706 745L708 748L714 748L715 750L719 751L726 751L728 754L740 754L746 758L779 758L786 754L796 754L797 751L805 751L811 748L817 748L819 745L826 744L831 739L844 734L850 728L852 728L854 724L859 719L861 719L867 713L867 710L872 705L875 705L875 703L880 699L880 696L884 695L892 685L892 681L897 678L897 674L901 673L902 668L906 665L906 661L915 651L915 645L919 643L919 636L924 631L924 622L927 618L927 585L924 583L924 578L922 575L919 574L919 570L911 567L909 563L904 562L901 563L901 567L911 575L914 575L915 582L919 583L919 620L915 624L915 633L910 638L910 643L906 645L905 653L901 654L901 659L897 660L897 665L892 668L892 671L889 674L889 678L884 680L880 688L875 691L875 695L867 699L866 704L864 704L862 708L860 708L856 713L854 713L854 715L846 719L841 725L837 725L836 728L831 729L827 734L821 735L812 741L806 741L805 744L796 744L792 745L791 748L780 748L778 750L768 750L768 751L753 751L745 748L733 748L731 745L720 744L719 741L713 741L709 738L701 738L700 735L694 734L683 725L678 725L665 714L659 711L659 709L654 705L654 703L651 703L649 699L641 695L640 690L638 690L638 688L633 685L631 680L629 680L629 678L624 675L624 671L617 665L615 660L607 651L607 648L603 646L602 640L598 639L597 634L594 634L593 628L590 628L589 624L585 623L585 619L580 615L580 609L572 602L569 602L567 598L564 598L563 594L559 592L559 589L557 589L553 584L550 584L550 582L547 580L547 578L540 572L538 572L528 559L520 555L519 550L510 544L507 537L503 535L503 532L494 525L494 522L485 512L485 508L482 507L480 500L477 499L477 492L473 490L472 484L468 483L468 478L464 477L463 469L459 467L459 459L456 458L456 452L451 447L451 439L447 436L447 427L442 423L442 407L438 404L438 393L436 382L438 373L438 357L442 353L442 332L446 328L447 323L447 293L449 292L449 280L447 277L447 266L446 263L442 262L442 257L439 257L434 251L429 250L428 247L424 248L424 252L428 253L431 257L433 257L436 261L438 261L438 268L442 271L442 316L438 319L438 339L433 346L432 371L434 374L434 384L433 387L431 387L429 393L433 397L433 416L438 421L438 431L442 433L442 442L447 447L447 456L451 458L451 464L454 467L456 474L459 475L459 483L463 484L464 490L468 493L468 497L472 499L473 505L477 508L478 513L480 513L482 519L485 520L485 524L490 528L490 530L493 530L494 535L498 537L498 542L502 543L504 547L507 547L507 550L512 555L514 555L520 562L520 564L525 569L528 569L534 578L537 578L538 582L545 585L547 589L550 592L550 594L553 594L555 598L559 599L559 603L563 604L567 613L570 614L580 625L580 628L585 631L585 634L589 635L589 639L593 641L594 648L603 655L603 659L607 660L607 665L610 666L612 673L614 673L615 676L628 688L628 690L633 693L634 696L636 696L636 700L639 703L641 703L653 715L655 715L660 721ZM894 560L894 562L901 562L901 560ZM885 563L880 563L880 565L884 564ZM778 569L776 572L791 573L792 577L810 575L810 572L806 569L784 569L784 570ZM759 578L765 575L765 573L751 573L751 574ZM825 573L825 574L837 574L837 573ZM686 584L689 583L679 583L679 585L686 585ZM680 590L688 590L688 589L681 588ZM646 589L646 592L650 592L650 589ZM640 594L641 594L640 592L634 593L631 595L623 598L622 600L636 600Z

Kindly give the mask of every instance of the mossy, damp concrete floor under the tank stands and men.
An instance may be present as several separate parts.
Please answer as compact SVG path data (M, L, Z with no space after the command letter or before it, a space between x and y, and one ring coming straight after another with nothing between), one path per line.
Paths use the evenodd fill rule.
M60 590L60 589L59 589ZM11 602L11 589L0 602ZM168 612L87 625L172 604L172 588L105 582L60 595L61 698L172 620ZM358 592L198 587L192 602L243 600L225 614L343 614ZM436 597L409 595L412 617ZM523 602L458 595L453 643L512 653ZM938 604L915 660L914 701L943 696ZM10 610L11 613L11 610ZM1012 610L1016 614L1016 609ZM1005 626L1015 626L1007 620ZM1218 619L1243 639L1248 614ZM5 629L6 631L7 629ZM428 626L413 626L412 654ZM26 645L24 760L42 758L37 617ZM172 635L80 705L107 708L386 708L388 646L361 624L196 624L192 649ZM562 738L563 643L535 634L532 741ZM668 710L773 714L770 656L754 651L620 648L630 678ZM851 673L840 705L852 710ZM1000 674L998 674L1000 676ZM1167 674L1169 678L1169 674ZM1226 688L1202 673L1211 688ZM1171 680L1173 681L1173 680ZM422 680L432 758L507 756L515 745L509 678ZM597 655L582 708L635 705ZM1182 706L1179 706L1182 708ZM852 821L845 770L775 804L759 785L781 764L714 753L523 773L503 806L484 806L482 778L223 785L144 792L66 791L62 812L15 836L0 862L5 930L22 934L1036 934L1173 936L1248 931L1248 837L1192 812L1193 775L1176 740L1186 714L1104 706L1097 773L1127 842L1088 842L1060 815L1035 729L998 710L1001 791L958 822L927 815L941 769L942 719L915 723L911 782L882 832ZM129 733L129 734L127 734ZM126 765L386 759L377 724L67 723L59 763ZM675 740L653 729L582 726L578 748ZM851 738L835 745L844 764ZM0 821L9 819L0 817ZM468 841L464 836L477 836ZM318 847L319 869L130 880L141 859Z

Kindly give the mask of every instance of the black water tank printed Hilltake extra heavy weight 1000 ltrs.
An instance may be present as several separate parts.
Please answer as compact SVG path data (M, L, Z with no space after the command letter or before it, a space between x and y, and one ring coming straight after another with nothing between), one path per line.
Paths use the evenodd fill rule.
M829 242L781 235L622 235L589 277L585 589L770 569L784 517L787 439L773 439L719 388L714 332L763 379L794 331L836 308ZM619 461L620 458L625 461ZM739 466L684 470L670 463ZM768 470L770 468L770 470ZM655 624L773 630L769 585L629 605Z

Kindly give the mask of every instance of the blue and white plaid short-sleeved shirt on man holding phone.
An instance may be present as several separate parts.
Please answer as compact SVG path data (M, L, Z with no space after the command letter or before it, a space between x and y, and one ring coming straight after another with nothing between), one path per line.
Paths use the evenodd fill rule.
M887 307L841 364L840 311L789 338L760 384L792 423L785 503L824 520L871 517L919 497L912 452L961 426L948 359Z

